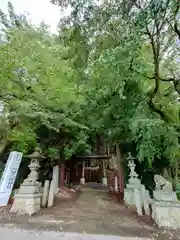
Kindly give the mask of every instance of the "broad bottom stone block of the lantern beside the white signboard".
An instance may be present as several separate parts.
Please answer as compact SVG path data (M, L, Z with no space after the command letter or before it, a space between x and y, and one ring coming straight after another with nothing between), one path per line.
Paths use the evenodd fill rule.
M28 214L29 216L37 213L41 209L42 193L22 194L17 193L11 207L11 213Z

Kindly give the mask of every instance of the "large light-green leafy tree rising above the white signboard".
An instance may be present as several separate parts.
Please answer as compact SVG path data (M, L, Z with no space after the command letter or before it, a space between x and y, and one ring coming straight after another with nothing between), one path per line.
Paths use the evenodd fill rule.
M64 57L66 47L56 43L44 24L34 27L27 19L15 24L11 4L9 8L9 20L1 13L5 41L0 46L0 98L15 126L7 139L23 152L40 142L51 158L60 152L61 158L70 158L69 141L76 142L71 145L77 150L86 127L75 119L78 92L74 70Z

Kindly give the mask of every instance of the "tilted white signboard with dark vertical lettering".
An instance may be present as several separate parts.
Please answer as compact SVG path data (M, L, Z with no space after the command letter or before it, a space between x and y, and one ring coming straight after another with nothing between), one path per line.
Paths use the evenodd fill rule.
M0 206L8 204L23 153L11 152L0 180Z

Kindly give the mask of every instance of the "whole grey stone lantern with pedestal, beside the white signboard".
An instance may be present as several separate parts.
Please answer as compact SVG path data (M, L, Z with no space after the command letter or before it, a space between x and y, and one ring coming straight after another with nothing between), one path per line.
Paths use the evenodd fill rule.
M21 184L18 193L11 208L11 212L32 215L41 209L42 193L40 192L40 183L38 182L39 161L45 159L41 155L42 150L36 147L33 154L27 156L31 158L29 164L30 174Z

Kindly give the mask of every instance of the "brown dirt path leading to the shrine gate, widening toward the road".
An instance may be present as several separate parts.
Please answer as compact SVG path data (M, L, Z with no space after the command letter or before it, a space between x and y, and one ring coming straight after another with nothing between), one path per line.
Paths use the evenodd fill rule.
M126 239L124 237L180 239L178 232L159 230L150 218L138 217L133 210L123 204L115 203L109 199L106 191L100 190L83 189L83 193L75 202L58 202L53 208L44 209L30 219L22 216L14 221L4 221L4 226L11 223L26 229L41 231L123 237L114 239Z

